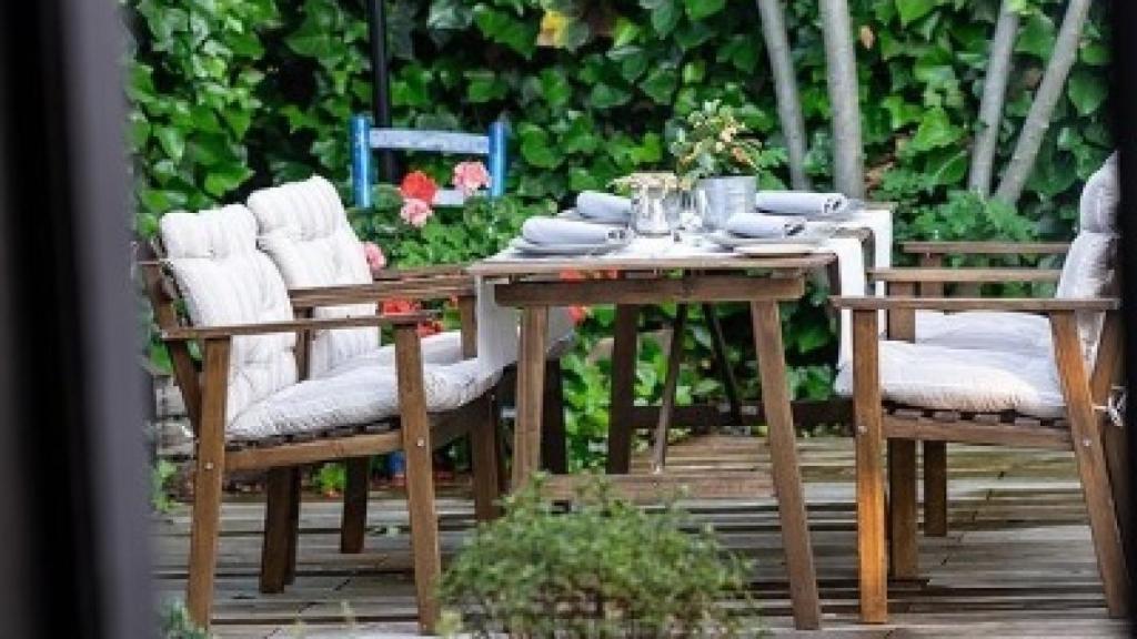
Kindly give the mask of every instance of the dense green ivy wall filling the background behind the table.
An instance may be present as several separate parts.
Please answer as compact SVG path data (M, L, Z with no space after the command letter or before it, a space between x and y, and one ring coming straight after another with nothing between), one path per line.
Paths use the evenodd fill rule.
M312 173L346 188L347 119L368 110L371 94L364 3L122 1L136 41L126 75L140 234L152 232L155 216L171 208L238 201L254 186ZM1111 150L1104 114L1110 15L1099 2L1014 217L956 193L965 189L998 6L850 2L870 197L898 202L898 239L1067 238L1080 184ZM1015 7L1022 26L997 167L1009 159L1063 8L1061 0ZM749 0L391 0L388 9L396 125L483 131L505 115L512 126L511 198L499 207L439 210L422 231L381 206L352 214L360 234L396 264L481 257L525 216L566 206L574 192L603 189L633 171L674 168L665 141L709 100L729 106L764 150L783 147ZM825 189L830 105L818 7L790 2L786 11L811 135L806 168ZM539 45L546 33L550 44ZM435 177L457 161L405 160ZM767 174L787 181L785 168ZM829 392L836 340L823 294L813 289L782 310L798 397ZM644 329L659 327L670 313L652 310ZM742 309L721 313L728 334L749 335ZM609 310L592 309L579 329L582 350L566 366L568 428L580 465L595 462L589 450L607 429L598 412L607 401L606 362L589 362L583 349L607 331L609 318ZM721 397L705 330L698 321L692 326L683 397ZM731 341L730 359L753 397L752 347L747 339ZM657 397L658 357L654 347L641 349L639 399Z

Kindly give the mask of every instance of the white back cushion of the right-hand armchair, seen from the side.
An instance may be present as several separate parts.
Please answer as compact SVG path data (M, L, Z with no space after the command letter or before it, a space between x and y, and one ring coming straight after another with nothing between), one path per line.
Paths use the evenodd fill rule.
M1078 235L1070 244L1062 276L1055 293L1059 298L1077 299L1111 294L1117 254L1118 161L1111 155L1086 181L1079 200ZM1099 313L1079 314L1082 351L1093 358L1101 334Z

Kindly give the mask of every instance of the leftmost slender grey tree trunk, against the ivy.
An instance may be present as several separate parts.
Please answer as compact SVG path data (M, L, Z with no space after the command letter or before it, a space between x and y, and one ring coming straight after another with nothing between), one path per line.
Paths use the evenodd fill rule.
M774 96L778 99L778 118L786 151L789 156L789 181L798 190L812 189L805 174L805 122L802 118L802 102L798 100L797 78L790 59L789 40L786 38L786 17L781 0L756 0L762 14L762 35L770 55L770 68L774 76Z

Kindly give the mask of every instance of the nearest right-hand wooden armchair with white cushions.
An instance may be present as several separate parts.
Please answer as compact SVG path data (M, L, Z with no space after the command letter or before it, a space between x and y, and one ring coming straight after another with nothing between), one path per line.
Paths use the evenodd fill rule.
M944 255L1005 255L1015 246L921 242L907 248L926 256L922 267L871 273L888 282L890 297L833 298L853 315L854 359L838 374L837 387L854 401L864 621L887 620L886 569L897 578L916 576L916 441L924 446L926 526L936 532L946 529L946 442L1072 450L1106 605L1111 615L1124 614L1129 574L1119 528L1128 481L1123 435L1103 410L1121 372L1119 302L1110 297L1115 184L1110 160L1082 192L1080 232L1069 248L1022 247L1023 252L1068 251L1061 273L940 268L935 264ZM1057 292L1047 299L943 297L948 283L978 292L982 283L1051 281L1059 282ZM880 310L887 313L885 340L879 337Z

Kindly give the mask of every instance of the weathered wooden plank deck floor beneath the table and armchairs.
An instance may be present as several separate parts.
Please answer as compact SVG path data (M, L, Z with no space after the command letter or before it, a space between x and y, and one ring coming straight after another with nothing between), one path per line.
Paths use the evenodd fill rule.
M1089 529L1070 455L949 447L951 531L920 540L923 579L894 583L891 623L856 622L853 450L849 440L802 440L810 528L824 611L823 630L791 629L777 507L772 501L694 505L730 547L757 561L761 623L777 637L1123 637L1105 615ZM766 466L761 440L700 438L671 449L669 464ZM642 459L638 460L642 464ZM406 511L396 496L372 497L363 555L340 555L340 506L306 500L298 576L281 595L257 591L263 504L233 499L223 511L214 629L218 637L390 637L414 633ZM443 553L472 523L460 493L445 497ZM185 580L189 516L156 524L164 591Z

